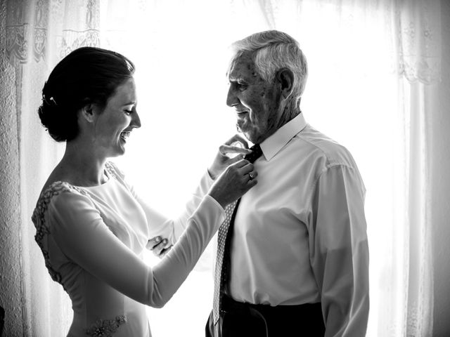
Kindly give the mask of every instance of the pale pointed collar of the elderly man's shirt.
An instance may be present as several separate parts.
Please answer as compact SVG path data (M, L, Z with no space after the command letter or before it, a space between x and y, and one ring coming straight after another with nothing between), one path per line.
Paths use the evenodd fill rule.
M303 114L300 113L288 121L288 123L281 126L281 128L278 128L272 136L264 140L260 145L266 160L269 161L272 159L305 126L307 126L307 122L304 120Z

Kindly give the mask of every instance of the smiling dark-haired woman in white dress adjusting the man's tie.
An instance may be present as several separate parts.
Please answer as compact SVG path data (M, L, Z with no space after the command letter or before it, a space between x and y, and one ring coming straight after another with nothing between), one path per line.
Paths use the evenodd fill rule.
M133 74L124 56L84 47L56 65L42 90L41 123L66 149L32 220L46 267L72 300L68 336L150 336L145 305L165 305L224 220L224 207L256 184L252 164L224 155L250 152L229 145L235 137L221 146L183 216L168 221L150 209L107 160L124 154L141 126ZM179 239L152 269L142 253L155 235Z

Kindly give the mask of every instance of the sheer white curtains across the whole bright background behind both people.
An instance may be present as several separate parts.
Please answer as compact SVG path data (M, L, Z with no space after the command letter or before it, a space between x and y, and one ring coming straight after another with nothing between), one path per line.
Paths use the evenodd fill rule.
M36 113L52 67L86 45L136 63L143 126L117 161L150 204L176 216L236 129L225 105L226 47L265 29L300 41L310 71L304 116L352 152L366 183L367 336L432 336L427 114L439 81L439 1L10 0L4 7L2 62L13 72L20 121L27 336L63 336L72 317L68 297L47 275L30 221L63 152ZM153 334L197 336L211 301L212 275L193 272L165 308L149 310Z

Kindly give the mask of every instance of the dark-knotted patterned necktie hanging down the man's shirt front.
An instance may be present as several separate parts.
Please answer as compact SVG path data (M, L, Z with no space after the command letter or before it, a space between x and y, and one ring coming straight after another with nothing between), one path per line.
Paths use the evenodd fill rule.
M252 153L247 154L244 159L254 163L256 159L261 157L262 150L258 144L250 147ZM214 270L214 298L212 302L212 314L214 324L219 321L219 310L221 308L221 296L224 293L224 286L229 279L230 269L230 242L233 232L234 216L238 209L240 199L234 201L225 207L225 220L219 227L217 234L217 257L216 268Z

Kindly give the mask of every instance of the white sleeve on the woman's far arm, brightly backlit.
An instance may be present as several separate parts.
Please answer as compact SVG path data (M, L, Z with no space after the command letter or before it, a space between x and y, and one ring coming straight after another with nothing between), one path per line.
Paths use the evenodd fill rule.
M184 210L179 214L177 218L167 218L163 214L159 213L155 209L153 209L150 205L146 203L139 194L136 193L136 190L132 186L129 186L131 193L134 195L136 200L141 205L143 211L146 213L148 229L150 232L150 237L156 237L160 235L163 238L168 240L167 246L173 245L177 239L184 232L188 218L190 218L198 208L198 205L203 200L203 197L207 194L213 183L212 178L210 178L209 173L205 173L203 178L200 180L200 184L195 189L195 192L192 194L191 199L189 199L186 203Z

